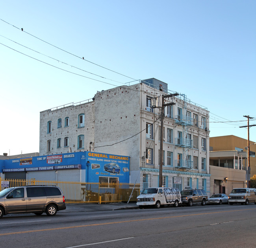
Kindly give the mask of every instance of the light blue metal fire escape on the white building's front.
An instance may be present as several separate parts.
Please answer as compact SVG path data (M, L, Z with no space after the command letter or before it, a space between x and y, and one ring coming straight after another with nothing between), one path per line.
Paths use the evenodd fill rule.
M182 108L184 113L181 112L175 116L175 123L182 126L183 132L182 137L175 138L175 145L177 147L182 147L183 158L175 160L175 168L191 169L193 167L193 162L188 151L193 147L193 141L189 138L187 129L193 125L193 118L191 118L191 116L187 116L187 96L185 94L180 94L180 96L183 97L184 101L184 108Z

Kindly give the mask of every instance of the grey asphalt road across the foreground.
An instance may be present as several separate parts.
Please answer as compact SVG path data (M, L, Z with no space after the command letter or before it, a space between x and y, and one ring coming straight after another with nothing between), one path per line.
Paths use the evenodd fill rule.
M6 215L8 248L255 247L256 205L207 205Z

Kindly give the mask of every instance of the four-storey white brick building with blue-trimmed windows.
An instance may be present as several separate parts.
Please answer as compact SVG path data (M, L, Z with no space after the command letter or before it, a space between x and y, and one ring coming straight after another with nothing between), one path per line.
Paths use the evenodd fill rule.
M93 99L40 113L40 155L95 151L130 156L130 182L158 186L160 110L150 99L170 94L147 79L97 92ZM184 94L165 103L163 184L210 192L209 111Z

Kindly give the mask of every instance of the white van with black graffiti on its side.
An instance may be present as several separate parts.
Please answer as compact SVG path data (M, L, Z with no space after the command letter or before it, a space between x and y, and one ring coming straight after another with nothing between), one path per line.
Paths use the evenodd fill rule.
M179 189L176 188L147 188L143 189L141 195L137 197L137 206L155 206L160 208L161 205L173 205L178 207L181 203Z

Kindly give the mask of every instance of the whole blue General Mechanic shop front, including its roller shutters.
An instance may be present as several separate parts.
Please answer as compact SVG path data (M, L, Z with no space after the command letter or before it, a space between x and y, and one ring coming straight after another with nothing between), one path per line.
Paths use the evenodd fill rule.
M73 152L0 161L5 179L129 183L130 157Z

